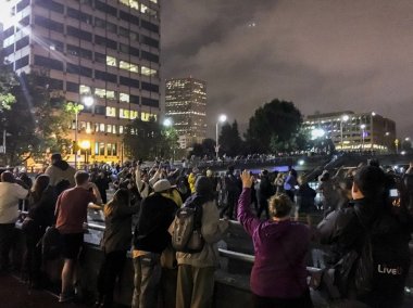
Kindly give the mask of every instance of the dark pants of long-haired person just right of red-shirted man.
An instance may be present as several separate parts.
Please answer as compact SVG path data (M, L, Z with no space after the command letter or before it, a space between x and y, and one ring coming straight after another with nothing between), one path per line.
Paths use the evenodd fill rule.
M98 275L99 299L107 305L113 303L116 278L122 274L126 260L126 251L116 251L104 254L102 266Z

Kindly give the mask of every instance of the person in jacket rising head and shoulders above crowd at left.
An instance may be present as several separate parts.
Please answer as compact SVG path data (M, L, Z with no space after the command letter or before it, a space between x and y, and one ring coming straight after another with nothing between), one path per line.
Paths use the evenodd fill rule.
M54 153L51 156L51 163L45 171L45 175L50 178L50 185L55 187L61 180L67 180L71 188L73 188L75 185L75 168L71 167L66 161L63 161L60 153Z

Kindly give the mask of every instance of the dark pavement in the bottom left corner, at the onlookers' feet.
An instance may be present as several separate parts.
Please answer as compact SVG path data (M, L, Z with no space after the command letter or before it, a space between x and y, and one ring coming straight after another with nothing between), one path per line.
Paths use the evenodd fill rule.
M58 296L43 290L28 290L13 275L0 275L0 307L2 308L75 308L76 304L59 304Z

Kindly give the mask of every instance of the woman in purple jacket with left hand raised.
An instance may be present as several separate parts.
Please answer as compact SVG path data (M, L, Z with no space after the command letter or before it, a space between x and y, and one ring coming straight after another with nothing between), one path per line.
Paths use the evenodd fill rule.
M253 177L245 170L241 180L238 220L252 236L255 252L250 278L253 307L313 307L305 268L310 229L290 220L293 205L286 194L270 200L271 218L261 221L250 209Z

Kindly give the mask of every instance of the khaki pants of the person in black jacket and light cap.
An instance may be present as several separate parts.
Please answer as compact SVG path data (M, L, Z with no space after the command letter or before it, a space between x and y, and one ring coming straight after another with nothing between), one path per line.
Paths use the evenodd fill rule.
M135 290L132 308L157 308L161 287L161 255L149 253L134 258Z

